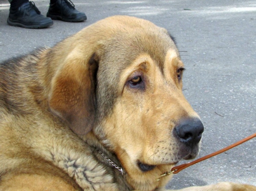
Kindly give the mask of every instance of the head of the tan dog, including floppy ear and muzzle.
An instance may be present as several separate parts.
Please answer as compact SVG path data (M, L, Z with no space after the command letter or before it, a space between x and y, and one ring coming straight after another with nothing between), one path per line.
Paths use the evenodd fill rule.
M149 21L109 17L64 40L49 94L77 134L92 132L140 190L199 151L203 124L182 93L184 66L168 32ZM57 48L58 49L58 46Z

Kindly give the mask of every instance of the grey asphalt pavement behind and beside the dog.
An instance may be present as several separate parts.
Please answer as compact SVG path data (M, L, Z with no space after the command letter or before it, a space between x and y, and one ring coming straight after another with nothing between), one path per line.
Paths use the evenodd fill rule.
M34 0L46 15L49 1ZM199 157L256 132L255 0L73 0L86 22L54 21L48 29L6 24L0 0L0 60L53 46L85 26L115 14L152 21L176 38L186 66L184 94L205 126ZM175 175L167 188L220 181L256 185L256 138Z

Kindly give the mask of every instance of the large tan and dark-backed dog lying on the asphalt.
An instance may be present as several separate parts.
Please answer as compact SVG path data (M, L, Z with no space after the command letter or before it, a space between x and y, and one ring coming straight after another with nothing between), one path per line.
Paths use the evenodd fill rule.
M1 191L160 191L204 126L166 29L129 16L0 65ZM222 182L189 191L255 191Z

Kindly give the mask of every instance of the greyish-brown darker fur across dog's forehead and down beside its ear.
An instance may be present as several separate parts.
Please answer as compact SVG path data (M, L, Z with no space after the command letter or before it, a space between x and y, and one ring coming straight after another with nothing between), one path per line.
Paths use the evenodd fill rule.
M134 60L149 55L164 70L164 61L168 50L173 49L179 55L174 41L167 32L160 30L122 31L114 35L103 46L97 75L97 100L99 114L106 116L112 110L117 95L117 85L122 71ZM106 108L108 108L106 110Z

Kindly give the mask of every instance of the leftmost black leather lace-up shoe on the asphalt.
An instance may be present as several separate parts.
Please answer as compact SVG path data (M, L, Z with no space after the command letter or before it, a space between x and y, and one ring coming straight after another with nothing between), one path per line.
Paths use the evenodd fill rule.
M46 28L53 25L53 21L41 14L34 2L23 3L18 9L10 8L7 23L29 29Z

